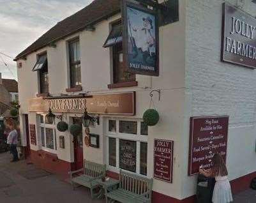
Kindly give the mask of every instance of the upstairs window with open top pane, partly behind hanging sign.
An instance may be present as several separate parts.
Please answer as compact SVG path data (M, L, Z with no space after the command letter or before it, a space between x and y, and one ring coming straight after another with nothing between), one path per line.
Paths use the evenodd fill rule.
M112 47L113 61L113 83L135 81L135 74L126 71L123 63L123 45L122 45L122 24L117 22L112 24L112 30L107 37L103 47Z

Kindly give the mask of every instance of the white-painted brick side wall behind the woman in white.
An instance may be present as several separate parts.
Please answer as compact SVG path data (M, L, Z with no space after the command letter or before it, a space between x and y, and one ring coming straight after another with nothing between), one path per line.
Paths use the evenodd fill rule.
M186 1L183 198L195 194L196 185L196 176L186 176L190 116L229 115L229 178L235 179L256 169L256 71L220 61L223 2ZM237 3L236 0L227 2ZM242 9L255 17L256 4L252 1L245 0Z

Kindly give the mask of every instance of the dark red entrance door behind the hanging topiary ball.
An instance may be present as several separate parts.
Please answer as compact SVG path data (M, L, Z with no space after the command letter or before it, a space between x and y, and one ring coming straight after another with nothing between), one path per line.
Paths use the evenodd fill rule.
M82 119L80 117L73 117L73 124L79 124L82 126ZM75 170L82 169L84 163L83 156L83 142L82 142L82 132L74 137L74 159L75 159Z

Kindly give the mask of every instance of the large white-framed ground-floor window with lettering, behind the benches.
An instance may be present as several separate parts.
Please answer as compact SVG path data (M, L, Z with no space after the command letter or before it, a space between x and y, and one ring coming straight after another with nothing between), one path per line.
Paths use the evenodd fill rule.
M128 170L147 176L147 135L143 122L109 119L107 121L108 170Z

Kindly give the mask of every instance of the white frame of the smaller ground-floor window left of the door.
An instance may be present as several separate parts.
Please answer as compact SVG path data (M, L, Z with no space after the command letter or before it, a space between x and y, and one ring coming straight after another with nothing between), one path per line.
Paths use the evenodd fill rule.
M41 123L41 116L43 116L43 123ZM47 124L45 123L45 114L38 114L38 121L39 121L39 132L40 132L40 140L41 140L41 128L44 128L44 134L45 134L45 146L42 145L41 142L41 149L43 149L43 151L48 151L49 153L54 153L57 154L57 144L56 144L56 125L55 125L55 120L53 124ZM53 139L54 139L54 149L50 149L49 147L47 147L47 142L46 142L46 128L52 129L53 130ZM42 141L42 140L41 140Z

